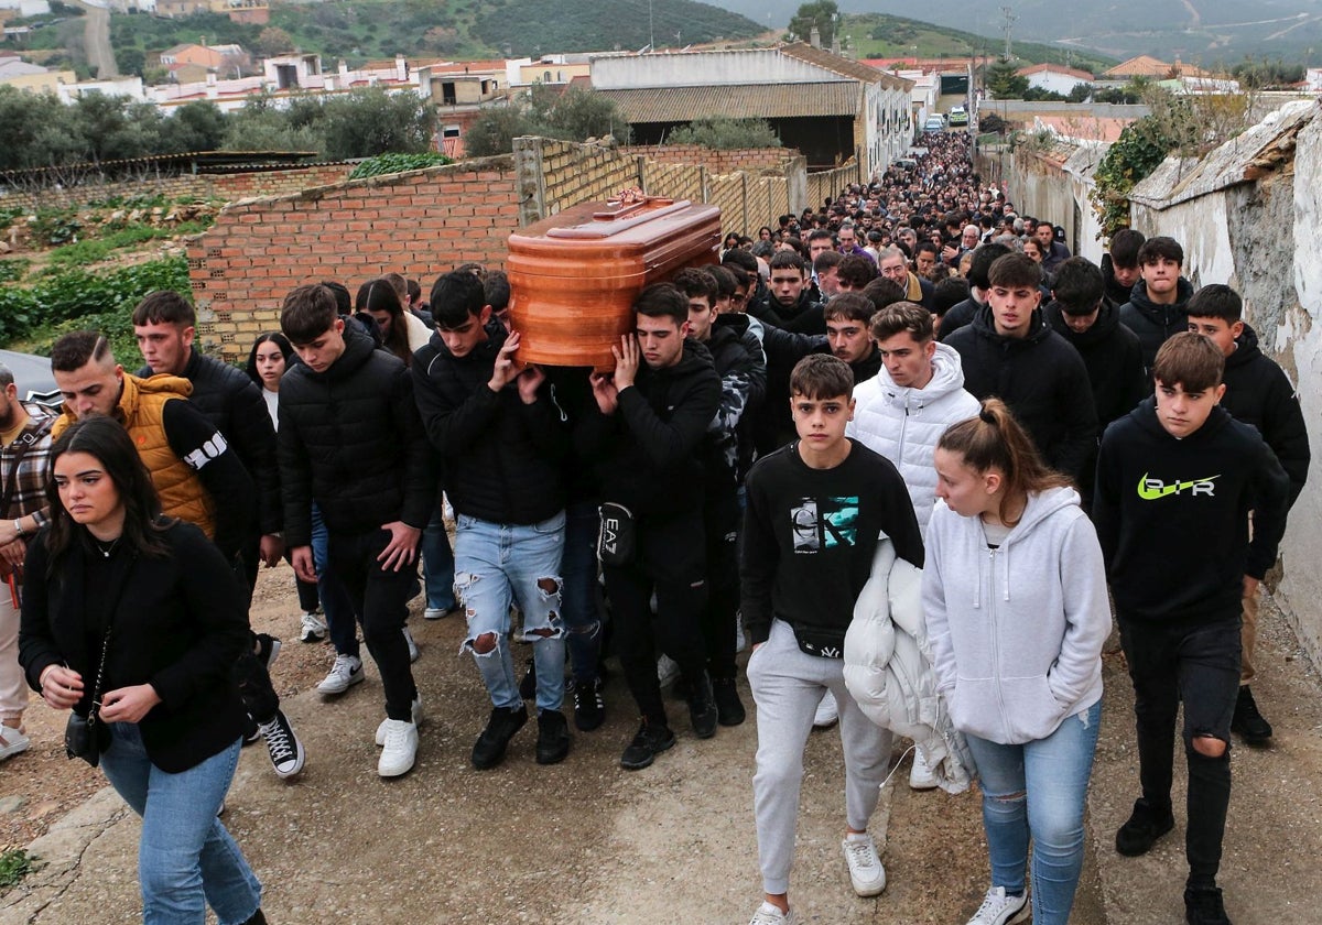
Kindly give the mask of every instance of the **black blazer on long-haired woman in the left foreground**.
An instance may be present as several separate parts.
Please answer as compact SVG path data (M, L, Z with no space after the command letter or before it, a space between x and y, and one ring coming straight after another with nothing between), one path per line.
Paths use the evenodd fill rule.
M98 555L75 539L53 577L45 577L48 533L28 546L19 661L33 690L49 665L83 677L86 716L100 661L103 633L87 625L87 562ZM112 616L100 692L149 683L161 703L139 723L143 745L161 770L188 770L243 732L245 710L234 663L249 645L247 608L221 551L190 523L165 530L169 555L139 556L127 568ZM115 558L127 558L120 550ZM93 588L91 595L106 593Z

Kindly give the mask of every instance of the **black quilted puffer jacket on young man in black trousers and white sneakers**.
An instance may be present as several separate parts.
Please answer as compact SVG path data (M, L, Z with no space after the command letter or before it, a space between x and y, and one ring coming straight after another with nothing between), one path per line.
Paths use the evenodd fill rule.
M280 381L280 481L288 546L312 542L312 502L332 533L403 521L427 526L436 468L403 362L356 325L324 373L297 363Z

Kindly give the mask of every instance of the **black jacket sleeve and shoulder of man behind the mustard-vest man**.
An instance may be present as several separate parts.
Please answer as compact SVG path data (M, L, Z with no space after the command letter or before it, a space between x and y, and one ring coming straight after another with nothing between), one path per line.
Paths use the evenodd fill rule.
M143 369L145 373L139 375L152 375L149 367ZM280 533L284 522L280 468L275 459L275 428L262 390L239 369L196 349L180 375L193 383L188 400L230 441L256 482L262 533Z

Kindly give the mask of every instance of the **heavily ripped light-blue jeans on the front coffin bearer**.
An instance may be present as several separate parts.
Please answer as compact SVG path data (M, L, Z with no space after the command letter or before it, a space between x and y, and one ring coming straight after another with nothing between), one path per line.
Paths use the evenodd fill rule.
M468 633L463 649L473 654L492 704L522 706L510 653L510 604L533 644L537 708L564 702L564 621L561 616L561 556L564 513L541 523L492 523L460 514L455 531L455 591Z

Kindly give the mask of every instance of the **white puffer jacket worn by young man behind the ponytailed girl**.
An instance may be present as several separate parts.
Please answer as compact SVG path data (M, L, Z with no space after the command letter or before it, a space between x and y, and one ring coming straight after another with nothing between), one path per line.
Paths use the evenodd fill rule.
M883 365L854 388L854 420L845 433L888 459L908 485L917 526L925 534L936 501L936 443L951 424L978 412L978 400L964 390L964 366L954 348L936 345L932 378L923 388L896 386Z

